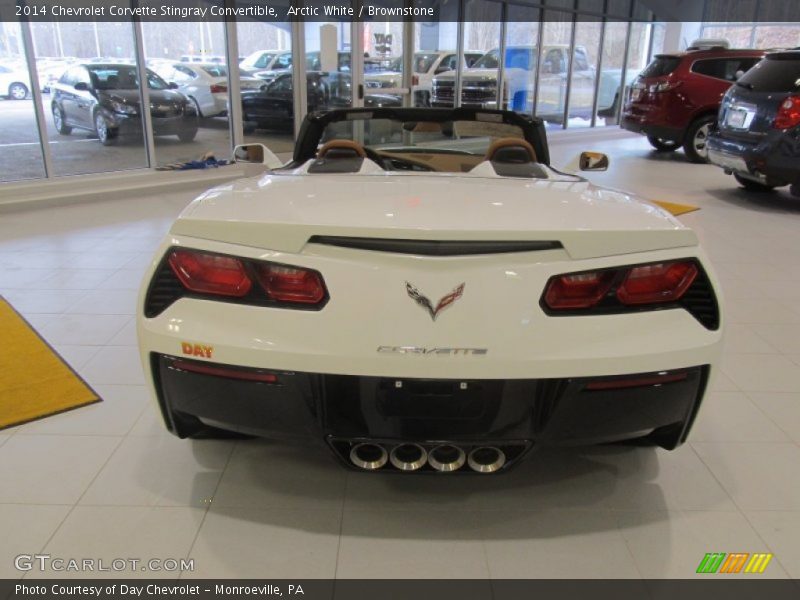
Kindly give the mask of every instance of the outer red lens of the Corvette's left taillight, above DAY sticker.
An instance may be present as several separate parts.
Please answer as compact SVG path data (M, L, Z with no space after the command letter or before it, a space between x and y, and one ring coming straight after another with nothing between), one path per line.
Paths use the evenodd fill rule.
M173 250L169 266L187 290L241 298L253 287L238 258L193 250Z

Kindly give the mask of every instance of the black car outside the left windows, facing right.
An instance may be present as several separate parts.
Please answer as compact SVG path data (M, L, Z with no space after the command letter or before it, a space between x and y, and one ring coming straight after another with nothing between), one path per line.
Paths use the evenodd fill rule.
M155 72L147 69L154 135L177 135L190 142L197 135L194 105ZM61 135L74 128L93 132L104 146L120 138L142 136L139 81L134 66L86 63L67 69L53 85L51 110Z

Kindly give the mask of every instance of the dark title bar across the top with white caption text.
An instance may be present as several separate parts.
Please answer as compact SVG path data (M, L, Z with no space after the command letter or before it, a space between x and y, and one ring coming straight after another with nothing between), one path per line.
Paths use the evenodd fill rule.
M796 0L0 0L0 21L800 23ZM505 15L504 15L505 13Z

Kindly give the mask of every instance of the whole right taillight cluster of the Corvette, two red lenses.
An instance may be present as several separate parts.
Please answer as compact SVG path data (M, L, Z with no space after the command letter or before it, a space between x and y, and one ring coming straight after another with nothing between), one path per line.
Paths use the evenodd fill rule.
M542 303L550 311L638 307L680 300L699 271L693 261L669 261L551 277Z

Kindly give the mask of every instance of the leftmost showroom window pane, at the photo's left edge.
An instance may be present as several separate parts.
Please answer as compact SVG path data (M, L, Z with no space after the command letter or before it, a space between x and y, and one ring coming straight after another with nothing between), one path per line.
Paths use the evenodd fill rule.
M0 182L44 177L22 31L14 22L0 29Z

